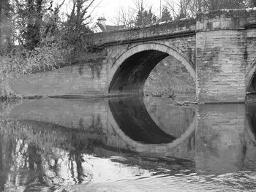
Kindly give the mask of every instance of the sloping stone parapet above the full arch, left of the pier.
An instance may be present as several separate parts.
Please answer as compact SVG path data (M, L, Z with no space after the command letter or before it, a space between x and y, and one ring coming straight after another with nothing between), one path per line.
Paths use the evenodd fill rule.
M170 39L195 35L195 19L178 20L137 28L123 29L104 33L90 34L83 39L93 45L120 45L131 42Z

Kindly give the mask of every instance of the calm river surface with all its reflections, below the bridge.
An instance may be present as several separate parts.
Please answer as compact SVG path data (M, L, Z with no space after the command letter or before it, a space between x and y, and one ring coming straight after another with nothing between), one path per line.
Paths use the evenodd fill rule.
M0 112L0 191L256 191L255 104L42 99Z

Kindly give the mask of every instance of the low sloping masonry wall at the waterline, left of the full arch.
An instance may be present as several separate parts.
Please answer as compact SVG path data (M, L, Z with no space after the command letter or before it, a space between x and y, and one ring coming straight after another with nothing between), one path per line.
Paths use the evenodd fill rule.
M76 64L48 72L26 74L10 81L20 96L104 96L108 94L108 66Z

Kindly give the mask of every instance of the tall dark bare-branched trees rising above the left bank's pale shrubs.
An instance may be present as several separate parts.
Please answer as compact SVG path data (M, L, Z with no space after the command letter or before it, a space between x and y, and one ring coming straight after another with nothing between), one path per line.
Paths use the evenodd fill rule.
M19 44L33 50L47 36L62 37L69 44L75 44L81 35L89 33L88 9L95 0L72 0L71 12L61 20L60 9L65 1L53 4L53 0L15 0L12 22Z

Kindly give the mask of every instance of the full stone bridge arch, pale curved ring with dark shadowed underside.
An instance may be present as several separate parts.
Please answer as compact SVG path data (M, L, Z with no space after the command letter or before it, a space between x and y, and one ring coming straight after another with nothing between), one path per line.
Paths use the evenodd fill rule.
M113 94L140 94L148 75L159 61L168 55L184 65L196 80L195 65L181 50L173 45L146 42L130 47L110 67L108 91Z

